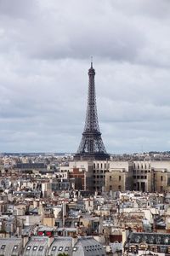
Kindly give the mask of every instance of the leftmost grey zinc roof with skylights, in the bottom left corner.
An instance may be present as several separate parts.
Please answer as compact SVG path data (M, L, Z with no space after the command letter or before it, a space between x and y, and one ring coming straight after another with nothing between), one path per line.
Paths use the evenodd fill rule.
M21 255L21 250L22 250L21 238L0 239L0 255L18 256L18 255Z

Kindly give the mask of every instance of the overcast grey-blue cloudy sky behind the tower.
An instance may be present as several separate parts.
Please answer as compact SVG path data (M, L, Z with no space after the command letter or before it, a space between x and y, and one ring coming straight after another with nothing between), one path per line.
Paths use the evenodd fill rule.
M170 150L169 0L0 0L0 152L77 152L91 55L107 152Z

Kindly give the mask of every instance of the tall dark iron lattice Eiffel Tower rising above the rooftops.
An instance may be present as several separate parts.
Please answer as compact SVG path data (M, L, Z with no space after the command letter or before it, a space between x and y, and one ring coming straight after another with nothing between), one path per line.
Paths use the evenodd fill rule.
M93 62L88 70L88 107L82 141L75 154L75 160L109 160L110 155L105 150L105 145L99 131L96 96L95 96L95 70Z

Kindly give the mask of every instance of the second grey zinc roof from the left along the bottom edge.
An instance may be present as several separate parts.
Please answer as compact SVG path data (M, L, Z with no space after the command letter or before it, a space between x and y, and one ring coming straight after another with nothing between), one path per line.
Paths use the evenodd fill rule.
M45 256L48 250L48 236L32 236L26 243L23 256Z

